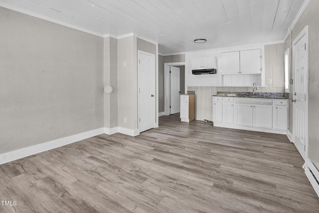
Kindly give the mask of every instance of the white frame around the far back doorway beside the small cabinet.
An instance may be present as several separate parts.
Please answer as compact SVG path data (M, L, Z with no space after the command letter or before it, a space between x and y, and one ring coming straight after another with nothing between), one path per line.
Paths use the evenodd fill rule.
M185 66L185 62L164 63L164 115L169 115L169 105L170 105L169 66ZM186 71L185 71L185 78L186 78Z

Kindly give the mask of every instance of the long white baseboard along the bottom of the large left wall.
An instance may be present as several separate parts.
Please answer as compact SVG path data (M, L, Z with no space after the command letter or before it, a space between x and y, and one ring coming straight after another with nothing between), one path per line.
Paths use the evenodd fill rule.
M38 145L26 147L26 148L14 150L11 152L3 153L3 154L0 154L0 165L11 162L11 161L18 160L20 158L25 158L27 156L34 155L34 154L37 154L40 152L44 152L44 151L55 149L55 148L58 148L61 146L72 144L74 142L81 141L81 140L84 140L87 138L91 138L91 137L94 137L97 135L101 135L103 133L104 133L104 128L100 128L100 129L95 129L95 130L91 130L88 132L68 136L65 138L60 138L57 140L49 141L46 143L42 143L42 144L38 144Z

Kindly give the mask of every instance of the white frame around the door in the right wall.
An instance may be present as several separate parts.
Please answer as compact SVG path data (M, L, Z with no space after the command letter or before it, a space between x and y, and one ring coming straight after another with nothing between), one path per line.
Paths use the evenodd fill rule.
M306 140L305 140L305 161L308 157L308 99L309 99L309 94L308 94L308 89L309 89L309 35L308 35L308 25L306 25L304 27L303 30L301 30L301 32L297 35L297 37L294 39L294 41L292 42L292 55L293 55L293 60L292 60L292 65L293 65L293 69L292 69L292 76L291 77L294 77L295 76L295 60L296 60L296 56L294 54L295 52L295 45L298 43L298 41L303 37L303 36L306 36L306 43L307 43L307 52L306 52L306 55L307 55L307 75L306 75L306 79L307 79L307 89L306 89L306 116L305 116L305 131L306 131ZM294 90L295 88L295 85L294 85L294 82L293 82L293 92L292 94L294 95ZM292 97L292 99L294 99L294 96ZM292 105L293 106L293 140L295 139L295 122L296 122L296 118L295 118L295 110L294 110L294 104ZM293 141L294 142L294 141Z

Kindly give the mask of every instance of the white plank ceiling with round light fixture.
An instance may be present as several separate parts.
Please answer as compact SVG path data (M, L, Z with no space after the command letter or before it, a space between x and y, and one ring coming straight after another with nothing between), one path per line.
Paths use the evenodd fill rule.
M135 33L170 54L282 41L304 1L0 0L0 6L100 36Z

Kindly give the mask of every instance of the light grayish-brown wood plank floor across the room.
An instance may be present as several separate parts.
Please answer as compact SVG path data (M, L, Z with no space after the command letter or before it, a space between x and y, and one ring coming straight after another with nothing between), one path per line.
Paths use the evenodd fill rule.
M1 213L318 213L287 136L181 123L99 135L0 165Z

